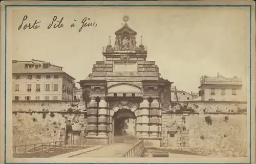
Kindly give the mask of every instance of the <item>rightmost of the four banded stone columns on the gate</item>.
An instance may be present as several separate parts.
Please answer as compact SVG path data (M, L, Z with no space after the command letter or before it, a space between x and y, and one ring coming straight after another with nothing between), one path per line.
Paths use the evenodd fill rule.
M149 111L150 136L161 136L161 108L158 98L153 98Z

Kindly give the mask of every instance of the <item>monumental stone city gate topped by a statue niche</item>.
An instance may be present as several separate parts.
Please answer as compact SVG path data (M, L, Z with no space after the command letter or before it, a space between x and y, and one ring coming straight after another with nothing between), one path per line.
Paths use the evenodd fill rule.
M137 44L137 33L127 24L115 32L115 43L103 48L104 61L96 61L92 73L80 81L88 114L87 139L110 144L121 134L115 128L135 119L139 138L160 146L162 105L160 93L172 83L160 78L155 61ZM120 119L122 121L120 121Z

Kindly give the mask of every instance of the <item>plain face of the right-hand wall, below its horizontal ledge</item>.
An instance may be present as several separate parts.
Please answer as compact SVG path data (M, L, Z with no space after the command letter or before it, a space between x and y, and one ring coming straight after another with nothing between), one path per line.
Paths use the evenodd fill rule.
M211 121L206 121L209 116ZM225 119L227 116L228 119ZM199 153L212 156L247 156L247 115L195 114L185 119L189 145Z

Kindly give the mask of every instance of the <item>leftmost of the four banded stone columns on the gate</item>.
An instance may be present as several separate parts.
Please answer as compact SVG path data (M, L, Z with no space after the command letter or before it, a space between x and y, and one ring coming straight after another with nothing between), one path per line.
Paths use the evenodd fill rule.
M97 102L96 98L91 98L91 101L89 103L89 108L87 110L88 114L88 136L96 136L97 135Z

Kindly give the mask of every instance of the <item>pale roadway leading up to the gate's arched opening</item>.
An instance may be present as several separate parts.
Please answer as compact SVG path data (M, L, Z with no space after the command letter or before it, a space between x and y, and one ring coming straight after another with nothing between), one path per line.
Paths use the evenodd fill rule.
M72 157L76 158L105 158L105 157L121 157L124 153L130 150L134 144L112 144L102 148L78 154Z

